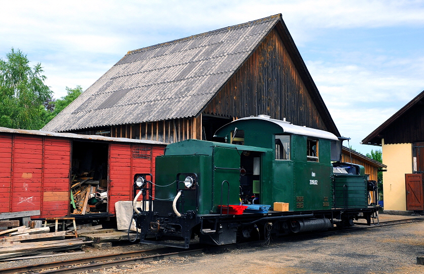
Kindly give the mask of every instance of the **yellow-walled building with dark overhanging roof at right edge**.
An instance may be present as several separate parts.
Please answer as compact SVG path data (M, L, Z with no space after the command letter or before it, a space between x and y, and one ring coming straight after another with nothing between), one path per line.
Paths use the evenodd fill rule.
M424 91L362 143L382 148L384 210L424 210Z

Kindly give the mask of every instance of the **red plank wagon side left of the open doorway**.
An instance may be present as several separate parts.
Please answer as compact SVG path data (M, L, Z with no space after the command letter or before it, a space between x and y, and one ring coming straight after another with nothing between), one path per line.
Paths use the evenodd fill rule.
M42 218L67 215L69 140L19 134L1 134L0 140L0 153L5 156L0 168L0 212L40 210Z

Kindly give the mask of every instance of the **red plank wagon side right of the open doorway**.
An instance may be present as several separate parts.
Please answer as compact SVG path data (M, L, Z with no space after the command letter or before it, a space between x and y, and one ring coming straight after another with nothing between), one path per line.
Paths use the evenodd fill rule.
M155 178L156 156L163 155L163 145L111 144L109 149L109 213L115 214L117 201L133 199L133 181L137 173ZM140 153L142 151L142 153ZM141 200L139 198L138 200Z

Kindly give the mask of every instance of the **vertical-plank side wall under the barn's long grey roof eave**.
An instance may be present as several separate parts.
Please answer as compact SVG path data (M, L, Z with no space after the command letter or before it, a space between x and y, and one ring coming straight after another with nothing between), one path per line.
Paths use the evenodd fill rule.
M175 143L187 139L202 140L202 116L188 119L111 126L111 136Z

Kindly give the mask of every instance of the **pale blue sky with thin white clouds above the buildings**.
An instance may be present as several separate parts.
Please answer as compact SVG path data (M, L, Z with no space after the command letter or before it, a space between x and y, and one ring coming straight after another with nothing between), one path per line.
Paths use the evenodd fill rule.
M424 90L421 1L0 0L0 58L41 63L54 97L83 90L128 51L282 14L341 135L360 142Z

